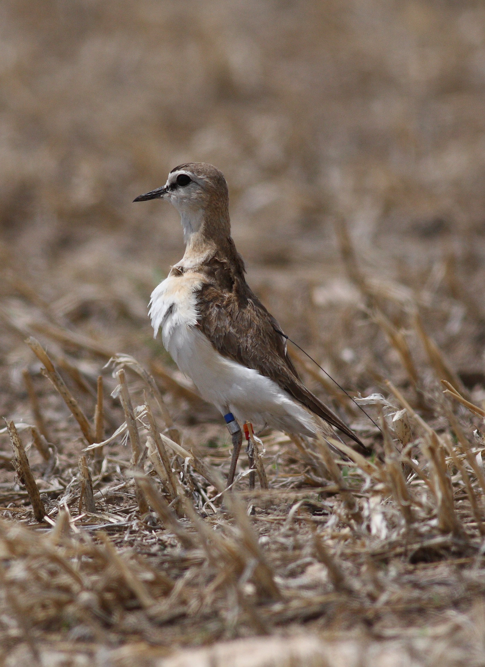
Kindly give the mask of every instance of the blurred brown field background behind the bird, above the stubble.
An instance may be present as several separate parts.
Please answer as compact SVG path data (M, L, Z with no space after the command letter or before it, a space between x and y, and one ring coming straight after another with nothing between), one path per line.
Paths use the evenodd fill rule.
M353 299L336 215L369 271L432 291L452 256L481 303L483 3L4 0L0 35L4 267L58 317L145 349L183 244L131 201L183 161L225 173L249 281L300 342L302 303Z

